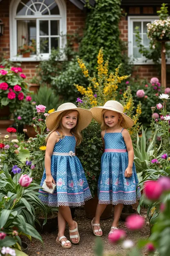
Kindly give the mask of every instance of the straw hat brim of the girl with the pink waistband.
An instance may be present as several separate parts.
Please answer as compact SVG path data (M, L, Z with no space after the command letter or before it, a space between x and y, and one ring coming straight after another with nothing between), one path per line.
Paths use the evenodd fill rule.
M98 122L101 123L102 122L102 110L112 110L114 112L120 113L124 119L124 123L125 123L125 129L131 128L134 125L134 121L128 117L126 114L124 114L123 112L116 110L114 107L92 107L90 109L90 111L92 112L93 118Z

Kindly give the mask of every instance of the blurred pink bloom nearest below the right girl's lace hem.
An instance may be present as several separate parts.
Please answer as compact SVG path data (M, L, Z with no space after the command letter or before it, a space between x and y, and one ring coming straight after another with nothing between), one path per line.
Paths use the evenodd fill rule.
M137 214L132 214L126 218L126 226L130 230L142 229L144 222L144 218Z

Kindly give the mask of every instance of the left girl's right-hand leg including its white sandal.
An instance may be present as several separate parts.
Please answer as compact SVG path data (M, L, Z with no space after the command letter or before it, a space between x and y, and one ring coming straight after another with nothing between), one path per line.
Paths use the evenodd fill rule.
M60 213L63 215L64 219L69 225L69 229L73 230L76 229L76 223L72 219L72 214L69 206L60 206ZM78 235L77 231L71 233L71 235ZM73 242L77 242L78 238L71 238Z

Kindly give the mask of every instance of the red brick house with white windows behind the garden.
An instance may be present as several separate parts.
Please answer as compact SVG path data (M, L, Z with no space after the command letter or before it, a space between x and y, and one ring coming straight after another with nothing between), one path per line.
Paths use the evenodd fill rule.
M128 42L128 55L135 57L134 74L139 74L141 78L157 76L157 71L152 62L145 62L139 53L134 27L140 27L143 44L148 47L146 24L157 19L157 10L163 2L122 0L122 8L127 16L120 22L121 39ZM166 3L170 3L170 0L166 0ZM95 0L90 0L90 4L94 6ZM0 0L0 20L4 24L0 53L7 53L12 61L22 61L27 78L33 77L38 61L48 59L52 47L65 46L66 37L61 33L83 31L86 16L84 5L85 0ZM36 53L30 57L16 57L18 47L32 39L36 41Z

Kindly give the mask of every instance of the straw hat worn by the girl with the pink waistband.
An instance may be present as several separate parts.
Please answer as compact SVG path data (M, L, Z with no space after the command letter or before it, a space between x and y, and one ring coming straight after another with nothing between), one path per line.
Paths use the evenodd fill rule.
M93 118L98 122L102 122L102 110L112 110L114 112L120 113L123 117L123 128L131 128L134 125L134 121L123 113L123 105L118 101L107 101L102 107L92 107L90 111L92 112Z

